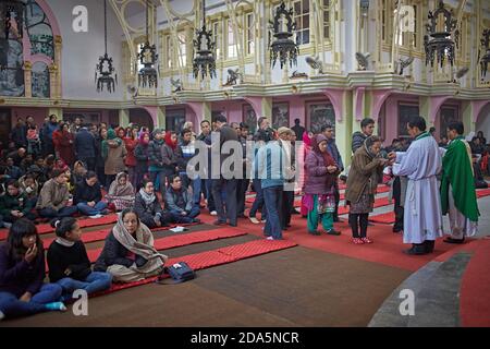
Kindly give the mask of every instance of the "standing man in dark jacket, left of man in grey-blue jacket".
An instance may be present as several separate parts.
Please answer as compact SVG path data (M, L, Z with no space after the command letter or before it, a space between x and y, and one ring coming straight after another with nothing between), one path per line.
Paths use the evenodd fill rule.
M217 132L219 133L220 142L219 147L217 145L212 146L211 149L211 160L212 163L218 161L220 164L220 173L219 179L218 173L212 173L212 196L216 203L216 210L218 212L218 220L215 221L215 225L222 226L226 224L226 216L229 219L229 224L232 227L236 227L237 213L236 213L236 179L233 173L229 170L223 171L221 169L223 163L232 155L223 154L222 147L229 142L236 142L236 145L241 147L238 142L238 135L236 131L230 128L226 123L226 117L218 116L216 118ZM242 157L240 158L242 160ZM224 213L223 201L221 198L221 193L225 193L225 205L226 205L226 214Z

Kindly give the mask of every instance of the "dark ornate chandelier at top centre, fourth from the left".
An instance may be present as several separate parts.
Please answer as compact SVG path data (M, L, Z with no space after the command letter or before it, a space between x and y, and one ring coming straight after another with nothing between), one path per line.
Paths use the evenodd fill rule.
M272 68L279 58L281 69L290 61L290 67L297 65L297 56L299 48L293 41L293 32L296 29L296 23L293 21L293 9L286 10L284 1L275 10L274 22L270 23L274 40L270 45L270 60Z

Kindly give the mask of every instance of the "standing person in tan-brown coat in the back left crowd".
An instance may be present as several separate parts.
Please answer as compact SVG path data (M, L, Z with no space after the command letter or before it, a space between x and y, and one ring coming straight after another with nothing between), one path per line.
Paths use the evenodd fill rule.
M114 130L109 129L107 140L102 141L103 172L107 176L107 186L114 181L115 174L126 169L124 165L126 155L127 152L124 142L117 136Z

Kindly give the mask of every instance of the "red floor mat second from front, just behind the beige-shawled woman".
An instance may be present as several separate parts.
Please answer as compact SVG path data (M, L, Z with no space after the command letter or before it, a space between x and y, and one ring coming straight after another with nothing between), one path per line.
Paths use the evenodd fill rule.
M180 246L185 246L193 243L199 243L199 242L207 242L218 239L224 239L224 238L234 238L244 236L246 232L238 231L233 228L222 228L222 229L213 229L213 230L205 230L205 231L195 231L195 232L188 232L161 239L155 239L155 248L159 251L161 250L169 250ZM100 253L102 252L102 249L94 249L88 250L87 255L88 260L91 263L95 263L97 258L99 257ZM48 266L46 266L46 272L48 272Z

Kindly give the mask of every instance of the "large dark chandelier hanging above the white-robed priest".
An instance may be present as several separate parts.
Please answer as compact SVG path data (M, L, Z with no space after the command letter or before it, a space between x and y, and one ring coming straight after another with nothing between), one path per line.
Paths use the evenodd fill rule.
M442 32L437 31L440 14L444 16ZM426 24L427 34L424 36L426 65L430 63L433 67L436 59L441 68L444 67L445 59L450 61L451 67L454 65L454 47L458 48L460 32L456 29L457 20L453 19L453 10L446 10L444 1L439 0L438 10L433 13L429 11L428 19L429 23Z

